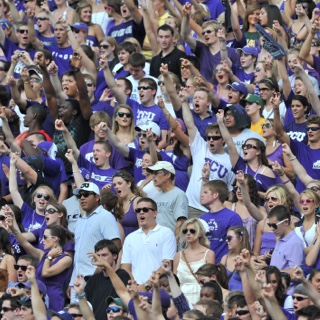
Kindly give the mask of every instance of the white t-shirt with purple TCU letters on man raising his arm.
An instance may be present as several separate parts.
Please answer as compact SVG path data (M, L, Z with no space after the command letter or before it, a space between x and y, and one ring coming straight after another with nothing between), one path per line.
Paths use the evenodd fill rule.
M209 180L222 180L228 185L229 191L232 191L232 183L235 179L234 173L231 171L232 166L229 155L227 153L214 154L209 150L207 142L201 137L199 131L190 144L190 150L193 158L193 167L189 185L186 191L189 206L203 212L207 212L204 206L200 204L200 192L202 185L202 168L205 162L210 162Z

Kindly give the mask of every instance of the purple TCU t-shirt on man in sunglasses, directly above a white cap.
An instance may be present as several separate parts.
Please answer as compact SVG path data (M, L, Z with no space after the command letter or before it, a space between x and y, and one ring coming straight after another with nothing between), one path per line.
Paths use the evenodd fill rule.
M145 107L143 104L130 98L127 98L126 104L132 109L136 125L139 125L139 122L153 121L158 124L161 130L170 129L168 121L163 116L163 112L157 104L151 107Z

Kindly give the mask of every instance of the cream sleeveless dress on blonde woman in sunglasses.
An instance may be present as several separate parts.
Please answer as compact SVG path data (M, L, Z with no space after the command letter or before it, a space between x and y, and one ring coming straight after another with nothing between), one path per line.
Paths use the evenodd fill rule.
M206 250L202 259L194 262L189 262L190 268L194 273L196 273L196 271L206 263L206 257L208 252L209 249ZM198 281L191 274L187 263L181 259L181 252L179 254L180 260L177 268L177 276L180 280L181 291L188 299L189 304L196 303L197 301L199 301L200 298L201 287Z

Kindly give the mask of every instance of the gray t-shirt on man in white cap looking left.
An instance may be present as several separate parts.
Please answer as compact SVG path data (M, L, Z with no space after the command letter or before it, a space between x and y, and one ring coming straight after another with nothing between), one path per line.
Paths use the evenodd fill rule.
M173 232L180 217L188 219L188 198L179 188L160 192L153 199L158 206L157 223L170 228Z

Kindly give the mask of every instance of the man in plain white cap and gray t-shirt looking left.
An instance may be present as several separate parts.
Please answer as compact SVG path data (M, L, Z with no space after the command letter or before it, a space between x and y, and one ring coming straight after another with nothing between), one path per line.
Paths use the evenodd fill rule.
M176 171L167 161L158 161L147 171L152 173L155 187L161 190L153 199L158 206L157 223L170 228L177 237L183 222L188 219L188 198L174 185Z

